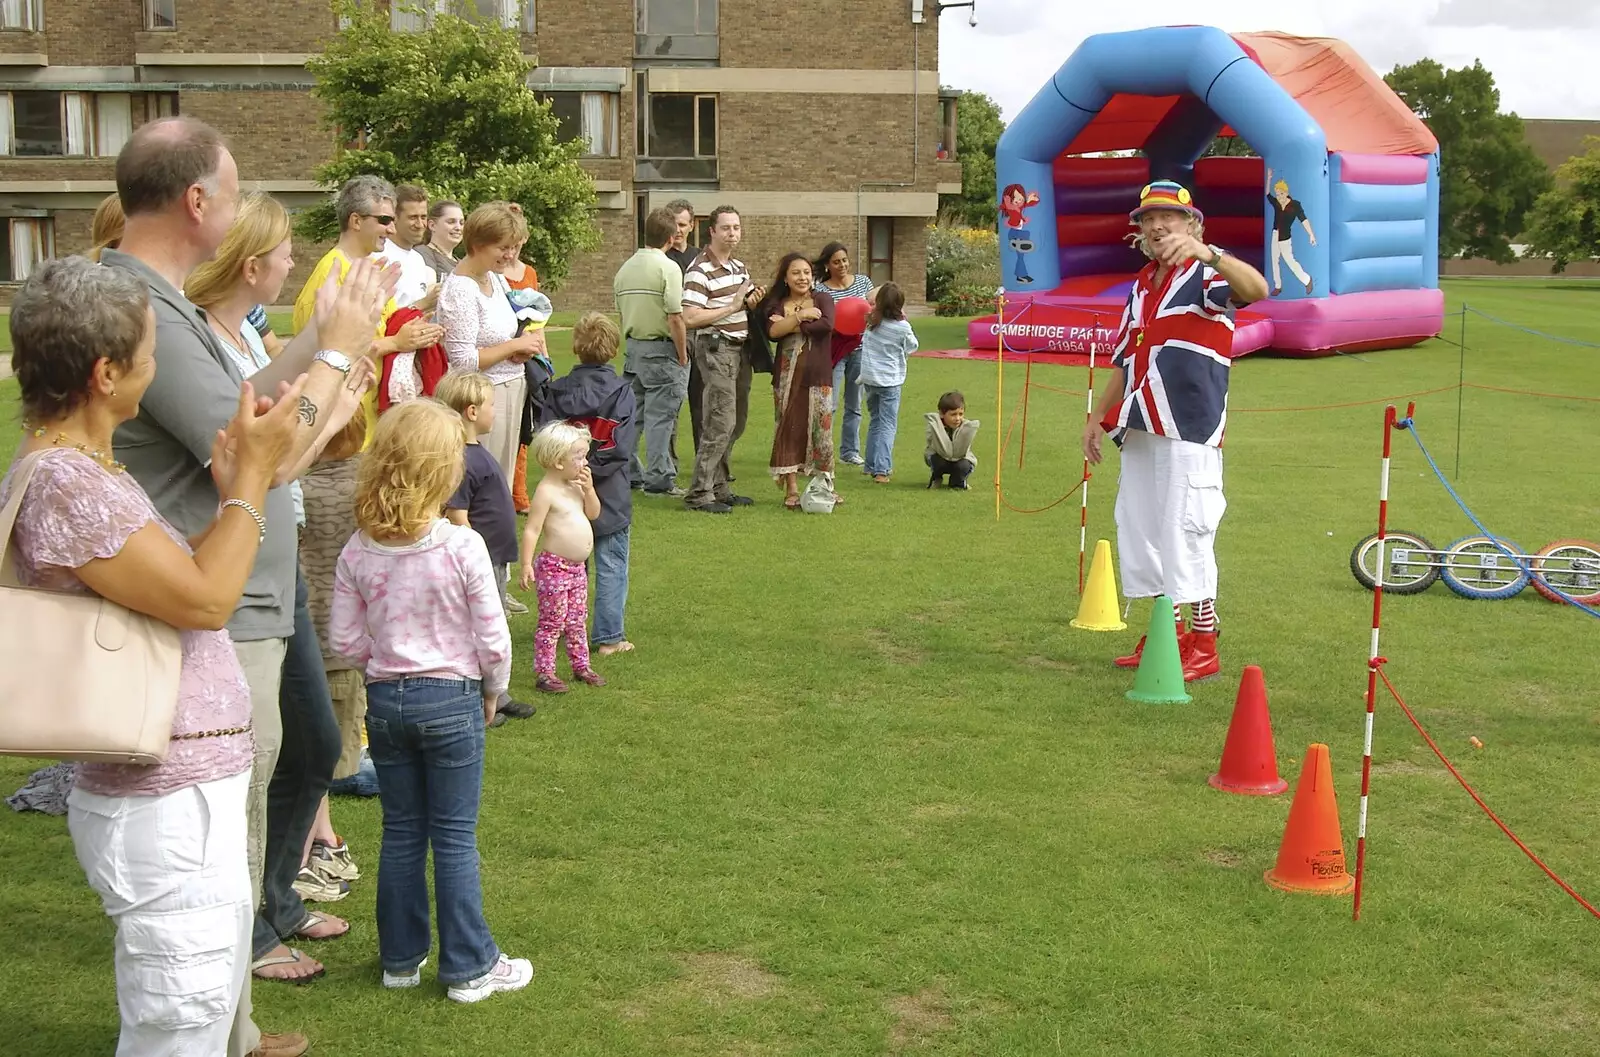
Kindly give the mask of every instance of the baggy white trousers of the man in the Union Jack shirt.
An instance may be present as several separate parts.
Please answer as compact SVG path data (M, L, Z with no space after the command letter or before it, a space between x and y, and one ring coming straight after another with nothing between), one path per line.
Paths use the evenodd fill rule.
M1117 560L1125 598L1216 598L1222 449L1128 430L1117 481Z

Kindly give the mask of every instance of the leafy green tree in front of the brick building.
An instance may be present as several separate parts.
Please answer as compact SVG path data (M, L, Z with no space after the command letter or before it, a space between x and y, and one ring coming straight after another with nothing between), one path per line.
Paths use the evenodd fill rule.
M600 245L594 181L578 165L578 141L560 141L550 107L528 88L531 66L517 30L438 14L418 32L395 32L379 5L334 0L344 29L306 66L325 123L360 136L317 168L338 187L360 173L421 184L467 209L515 201L528 217L523 257L541 285L558 286L571 259ZM299 217L302 235L338 237L333 205Z

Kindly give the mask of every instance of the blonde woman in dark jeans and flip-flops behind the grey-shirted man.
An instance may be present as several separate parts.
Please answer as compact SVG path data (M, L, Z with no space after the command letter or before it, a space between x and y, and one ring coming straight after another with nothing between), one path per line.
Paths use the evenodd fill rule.
M277 299L293 267L288 213L274 198L254 193L240 201L216 256L195 269L184 286L186 296L206 310L211 329L245 377L269 363L261 334L246 315L254 305ZM350 379L339 390L339 405L328 419L328 429L296 473L307 469L326 441L355 416L370 382L371 365L357 360ZM304 525L299 483L291 491L296 518ZM267 787L266 876L251 972L264 980L304 982L320 975L322 966L282 940L333 939L349 931L339 918L306 908L307 897L333 902L346 891L342 876L325 876L307 865L314 830L344 852L338 864L341 875L354 875L349 851L326 822L326 792L339 761L341 739L304 577L296 577L294 585L294 635L283 659L278 710L283 716L283 747Z

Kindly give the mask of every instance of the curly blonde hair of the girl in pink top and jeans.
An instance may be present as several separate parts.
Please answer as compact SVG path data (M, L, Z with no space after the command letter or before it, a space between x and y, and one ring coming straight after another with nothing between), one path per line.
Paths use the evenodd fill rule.
M461 485L467 430L437 400L408 400L378 419L355 477L355 523L379 542L416 539Z

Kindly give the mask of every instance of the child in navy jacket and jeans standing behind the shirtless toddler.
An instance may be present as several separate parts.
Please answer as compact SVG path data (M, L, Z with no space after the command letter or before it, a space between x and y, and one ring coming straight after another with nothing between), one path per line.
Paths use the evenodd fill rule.
M566 422L589 430L589 472L600 496L595 532L594 628L589 646L595 654L627 652L634 643L622 633L627 604L629 529L634 493L627 483L627 456L638 446L638 406L634 387L611 369L622 333L598 312L578 320L573 353L578 366L546 385L541 425Z

